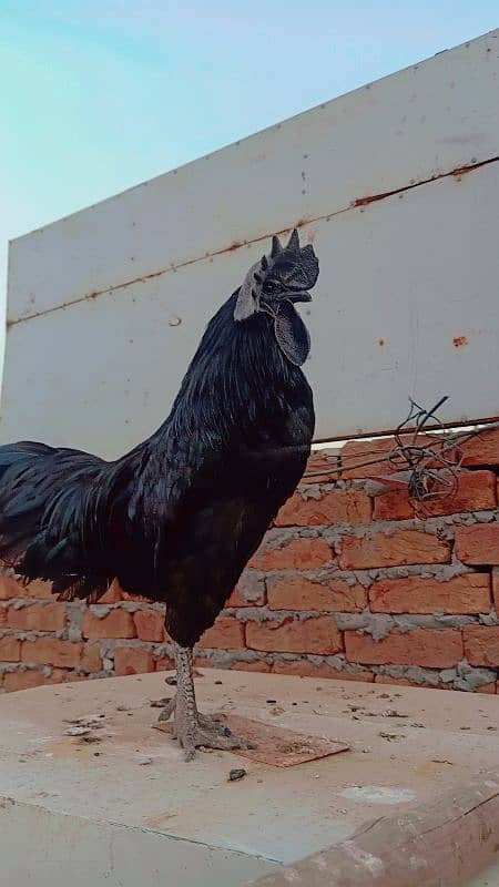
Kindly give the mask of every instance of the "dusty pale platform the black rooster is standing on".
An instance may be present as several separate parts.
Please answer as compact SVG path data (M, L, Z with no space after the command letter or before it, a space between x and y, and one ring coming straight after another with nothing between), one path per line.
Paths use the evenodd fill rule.
M499 763L497 696L214 670L196 685L206 712L352 750L286 769L222 752L185 764L151 728L151 701L174 692L164 674L6 694L0 857L9 880L163 887L167 876L175 887L236 887ZM65 735L68 722L89 716L96 742ZM247 775L228 782L233 767Z

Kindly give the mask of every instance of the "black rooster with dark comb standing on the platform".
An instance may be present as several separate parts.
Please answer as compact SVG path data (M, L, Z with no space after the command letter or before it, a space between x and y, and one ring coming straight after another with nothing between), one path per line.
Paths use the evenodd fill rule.
M244 747L197 712L192 651L306 465L312 390L301 370L308 333L294 303L318 277L296 231L210 322L172 411L149 440L113 462L79 450L0 447L0 557L61 600L99 600L118 577L166 602L177 693L174 735L196 746Z

